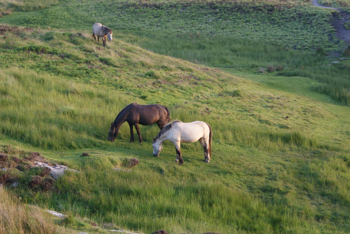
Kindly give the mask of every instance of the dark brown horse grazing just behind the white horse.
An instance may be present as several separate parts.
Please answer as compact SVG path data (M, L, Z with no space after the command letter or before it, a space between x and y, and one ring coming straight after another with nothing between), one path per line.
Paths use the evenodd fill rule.
M114 122L111 123L111 126L109 127L108 140L112 142L114 141L115 137L119 133L120 126L125 121L128 122L130 126L130 142L134 142L133 126L135 126L141 143L142 137L138 125L151 125L157 123L158 127L162 130L162 128L170 122L170 113L168 108L158 104L129 104L119 112Z

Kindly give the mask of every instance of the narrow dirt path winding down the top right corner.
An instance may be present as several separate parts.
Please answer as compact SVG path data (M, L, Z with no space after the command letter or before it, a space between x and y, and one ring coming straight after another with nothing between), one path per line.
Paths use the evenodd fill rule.
M328 7L328 6L323 6L319 4L318 0L312 0L312 4L314 6L318 6L318 7L322 7L322 8L326 8L326 9L332 9L332 10L336 10L339 12L339 18L334 18L334 22L333 22L333 27L337 30L337 36L344 40L347 45L350 45L350 30L347 30L344 27L344 24L346 22L350 22L350 13L343 11L340 8L335 8L335 7Z

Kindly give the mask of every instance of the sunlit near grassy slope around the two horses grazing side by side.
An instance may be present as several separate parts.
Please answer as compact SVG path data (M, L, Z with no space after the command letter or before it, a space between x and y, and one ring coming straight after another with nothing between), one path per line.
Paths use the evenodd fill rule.
M338 178L349 177L347 107L118 40L102 48L89 34L21 29L6 35L11 41L1 39L1 54L17 66L1 71L2 141L27 142L83 172L59 181L59 193L23 188L27 201L144 233L346 232L349 193ZM210 123L213 162L201 161L199 144L183 145L182 167L173 162L170 143L153 158L155 126L141 129L142 145L127 143L127 126L117 143L108 143L117 110L134 101L164 104L173 119ZM91 156L47 147L89 147L83 151ZM116 174L111 168L122 166L124 157L141 164Z

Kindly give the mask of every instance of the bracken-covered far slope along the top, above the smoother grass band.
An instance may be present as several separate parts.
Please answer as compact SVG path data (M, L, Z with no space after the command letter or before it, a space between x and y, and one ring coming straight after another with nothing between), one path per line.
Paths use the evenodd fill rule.
M303 1L79 1L0 19L21 26L89 29L101 22L116 31L233 36L297 50L334 50L342 41L331 11ZM331 41L329 41L329 39Z

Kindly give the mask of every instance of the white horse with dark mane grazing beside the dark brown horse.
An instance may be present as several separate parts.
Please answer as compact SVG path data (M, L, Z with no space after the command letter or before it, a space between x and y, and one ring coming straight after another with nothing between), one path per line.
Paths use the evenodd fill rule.
M212 156L212 135L212 128L205 122L183 123L174 121L165 125L156 138L153 139L153 156L158 157L163 149L163 142L169 140L175 145L177 155L175 161L179 161L179 165L182 165L184 159L181 156L180 143L192 143L199 140L204 149L204 161L210 162L210 157Z

